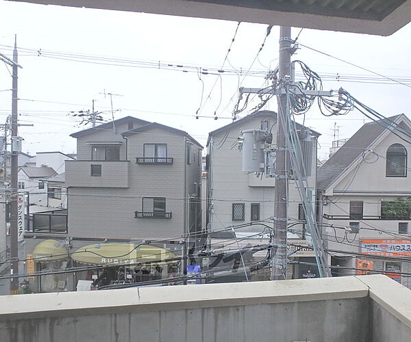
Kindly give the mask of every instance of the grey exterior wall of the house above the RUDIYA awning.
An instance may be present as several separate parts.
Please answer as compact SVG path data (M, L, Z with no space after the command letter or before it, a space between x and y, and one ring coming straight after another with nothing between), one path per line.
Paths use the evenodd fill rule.
M121 141L123 140L120 135L122 129L127 131L127 125L119 125L116 135L112 131L98 131L79 138L79 150L77 150L79 160L86 157L90 159L91 147L85 142ZM121 160L126 159L126 140L123 142ZM173 164L136 163L136 157L143 157L143 146L147 143L167 144L167 157L173 158ZM103 187L107 186L104 184L90 187L90 184L84 183L82 187L69 187L69 235L96 238L171 239L181 237L186 232L184 207L189 193L185 192L185 187L192 188L195 179L199 182L200 174L197 159L192 168L186 168L186 138L181 133L161 128L129 135L127 159L129 160L127 188L119 187L125 176L111 180L109 185L111 187ZM68 165L77 166L78 163L84 161L73 161ZM70 183L71 177L72 175L66 172L67 184ZM188 179L186 184L185 177ZM171 219L135 218L134 212L142 211L143 197L165 197L166 212L172 213Z

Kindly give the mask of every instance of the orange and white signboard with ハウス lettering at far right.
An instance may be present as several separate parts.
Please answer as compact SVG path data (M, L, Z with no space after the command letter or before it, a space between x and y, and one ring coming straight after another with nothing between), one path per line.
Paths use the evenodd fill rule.
M361 240L361 252L370 255L382 255L383 257L411 257L411 241L363 239Z

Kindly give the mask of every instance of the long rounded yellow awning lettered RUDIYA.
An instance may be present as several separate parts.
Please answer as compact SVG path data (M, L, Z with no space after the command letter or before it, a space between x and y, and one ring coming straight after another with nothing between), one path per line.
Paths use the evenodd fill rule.
M93 244L79 248L71 258L80 263L107 265L136 265L177 263L175 254L160 247L139 244ZM175 260L169 260L175 259Z

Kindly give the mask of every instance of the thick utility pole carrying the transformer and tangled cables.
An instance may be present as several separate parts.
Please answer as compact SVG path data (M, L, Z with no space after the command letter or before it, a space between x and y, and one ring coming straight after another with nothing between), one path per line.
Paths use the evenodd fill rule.
M291 64L291 27L279 29L279 89L284 88L284 77L290 76ZM286 172L286 94L278 95L277 114L277 157L275 162L275 196L274 196L274 237L273 258L271 259L271 279L286 279L287 270L287 172Z

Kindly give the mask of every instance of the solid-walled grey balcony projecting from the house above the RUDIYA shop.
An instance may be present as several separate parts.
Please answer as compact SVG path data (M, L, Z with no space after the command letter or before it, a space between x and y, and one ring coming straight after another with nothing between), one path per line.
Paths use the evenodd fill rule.
M67 187L129 187L129 161L66 161L65 183Z

